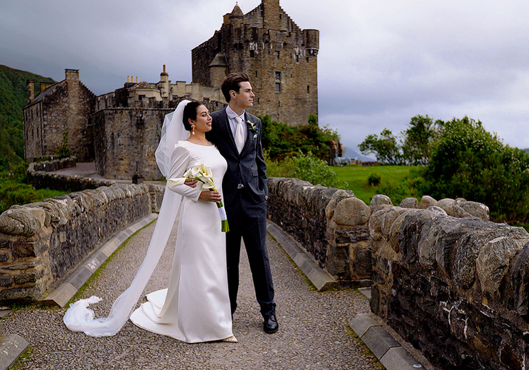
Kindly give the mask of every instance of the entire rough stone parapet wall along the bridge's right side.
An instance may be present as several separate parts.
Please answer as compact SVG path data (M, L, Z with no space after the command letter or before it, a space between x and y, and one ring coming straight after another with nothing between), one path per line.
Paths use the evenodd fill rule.
M269 218L342 286L372 283L372 311L437 369L528 368L525 229L492 223L488 207L461 198L396 207L377 195L366 205L296 179L269 184Z

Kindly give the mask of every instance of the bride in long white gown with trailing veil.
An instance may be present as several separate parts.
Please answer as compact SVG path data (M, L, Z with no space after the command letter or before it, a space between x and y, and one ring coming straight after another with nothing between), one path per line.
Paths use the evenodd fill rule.
M181 178L203 161L221 189L227 164L206 140L211 121L208 109L199 102L182 101L177 110L166 116L156 151L157 164L166 178ZM114 302L107 318L94 319L94 312L88 309L100 298L92 296L75 302L63 318L68 329L89 336L112 336L130 316L138 327L183 342L237 342L228 298L226 238L215 204L221 201L221 194L203 191L199 184L166 187L146 258L130 287ZM147 302L132 312L178 215L177 245L168 287L148 294Z

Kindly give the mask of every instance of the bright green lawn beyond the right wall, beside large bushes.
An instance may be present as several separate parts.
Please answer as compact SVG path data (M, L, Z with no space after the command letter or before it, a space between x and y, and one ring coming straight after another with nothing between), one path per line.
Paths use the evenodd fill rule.
M332 167L332 170L336 172L341 183L343 181L348 182L347 190L352 190L357 198L370 204L371 198L377 194L377 187L368 184L370 174L378 174L382 182L400 183L410 174L412 169L416 168L419 167L395 165L361 167L354 165Z

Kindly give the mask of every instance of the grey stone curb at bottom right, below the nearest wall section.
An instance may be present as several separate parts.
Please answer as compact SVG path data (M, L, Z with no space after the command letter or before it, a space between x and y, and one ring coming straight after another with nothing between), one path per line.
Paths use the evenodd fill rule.
M387 370L425 369L393 338L374 314L358 314L349 327Z

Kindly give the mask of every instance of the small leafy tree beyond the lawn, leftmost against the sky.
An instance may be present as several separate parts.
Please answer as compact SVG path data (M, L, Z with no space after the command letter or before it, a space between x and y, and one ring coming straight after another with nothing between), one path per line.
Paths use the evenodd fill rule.
M388 165L401 165L403 158L397 145L397 137L387 128L382 130L380 137L370 134L358 145L364 155L375 154L377 161Z

